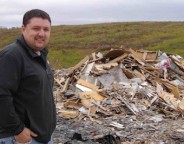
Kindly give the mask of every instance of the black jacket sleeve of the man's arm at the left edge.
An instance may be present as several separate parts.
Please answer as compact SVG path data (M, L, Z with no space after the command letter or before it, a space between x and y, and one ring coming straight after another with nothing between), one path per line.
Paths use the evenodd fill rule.
M0 53L0 128L15 135L19 134L24 124L16 114L13 104L14 95L20 83L20 62L7 52Z

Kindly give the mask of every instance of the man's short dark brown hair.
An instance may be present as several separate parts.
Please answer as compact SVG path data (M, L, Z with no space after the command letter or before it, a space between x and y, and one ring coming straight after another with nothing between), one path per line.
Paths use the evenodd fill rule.
M23 25L26 26L29 23L30 19L34 17L47 19L51 23L51 18L48 13L40 9L32 9L24 14L22 22Z

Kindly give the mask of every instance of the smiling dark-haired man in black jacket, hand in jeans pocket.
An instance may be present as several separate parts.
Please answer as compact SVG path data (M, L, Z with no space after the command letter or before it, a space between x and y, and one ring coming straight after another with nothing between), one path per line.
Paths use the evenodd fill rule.
M0 52L0 144L52 143L53 75L46 60L50 16L25 13L22 35Z

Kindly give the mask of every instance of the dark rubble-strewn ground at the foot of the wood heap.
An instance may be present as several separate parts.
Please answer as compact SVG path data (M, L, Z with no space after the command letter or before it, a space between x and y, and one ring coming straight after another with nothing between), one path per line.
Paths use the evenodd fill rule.
M123 127L111 126L112 121ZM184 120L150 111L137 116L113 115L103 118L103 124L87 117L82 120L58 117L53 139L55 144L182 144Z

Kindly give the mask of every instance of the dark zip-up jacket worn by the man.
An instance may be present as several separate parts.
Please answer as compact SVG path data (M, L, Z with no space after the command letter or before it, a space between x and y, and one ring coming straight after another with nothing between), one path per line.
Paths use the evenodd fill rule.
M0 138L19 134L24 127L46 143L56 126L53 74L46 60L27 46L21 35L0 52Z

